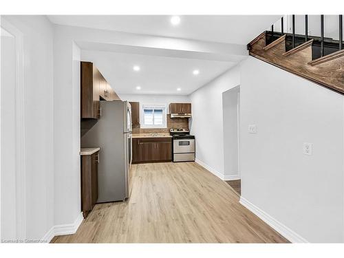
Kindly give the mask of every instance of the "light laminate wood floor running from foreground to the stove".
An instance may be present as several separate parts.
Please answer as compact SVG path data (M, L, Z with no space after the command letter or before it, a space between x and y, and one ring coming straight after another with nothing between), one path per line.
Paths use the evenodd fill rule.
M97 204L53 243L286 243L195 162L136 164L127 202Z

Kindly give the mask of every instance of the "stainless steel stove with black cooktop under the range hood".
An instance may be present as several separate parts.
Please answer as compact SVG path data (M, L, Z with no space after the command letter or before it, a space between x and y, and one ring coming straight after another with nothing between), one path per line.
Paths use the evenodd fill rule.
M195 161L195 136L189 129L170 129L173 136L173 162Z

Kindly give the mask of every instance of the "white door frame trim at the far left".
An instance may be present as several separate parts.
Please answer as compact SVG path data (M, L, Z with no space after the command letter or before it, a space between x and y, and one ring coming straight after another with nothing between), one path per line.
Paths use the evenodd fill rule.
M1 17L0 26L10 32L15 38L16 44L16 82L14 99L16 106L16 235L17 239L26 237L26 173L25 173L25 111L24 111L24 50L23 33L12 23ZM1 99L0 99L1 101ZM1 133L1 131L0 131ZM0 155L1 159L1 155ZM0 160L1 164L1 160ZM1 180L1 177L0 177ZM1 200L1 181L0 181ZM1 219L1 206L0 206ZM1 225L1 223L0 223ZM0 228L1 238L1 228Z

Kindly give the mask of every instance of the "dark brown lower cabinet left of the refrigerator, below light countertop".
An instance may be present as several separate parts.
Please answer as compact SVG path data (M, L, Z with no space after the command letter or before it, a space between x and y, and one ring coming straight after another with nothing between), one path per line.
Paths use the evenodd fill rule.
M98 199L99 151L81 156L81 210L87 217Z

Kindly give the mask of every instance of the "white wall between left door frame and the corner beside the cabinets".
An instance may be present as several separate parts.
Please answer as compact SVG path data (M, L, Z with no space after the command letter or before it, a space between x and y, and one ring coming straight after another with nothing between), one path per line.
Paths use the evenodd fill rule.
M44 16L4 18L23 33L26 238L41 239L54 218L54 35Z

